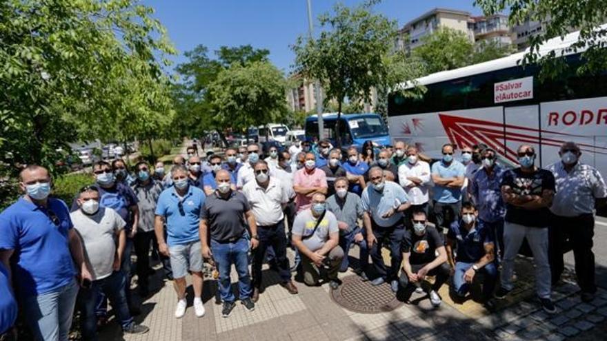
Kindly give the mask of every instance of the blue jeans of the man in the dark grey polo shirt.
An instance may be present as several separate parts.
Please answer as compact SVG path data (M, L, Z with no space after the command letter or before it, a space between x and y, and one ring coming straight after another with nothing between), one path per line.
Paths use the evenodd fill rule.
M219 294L223 302L236 300L231 289L230 270L232 264L238 273L239 299L250 298L252 287L248 264L249 241L244 236L236 242L217 242L211 239L211 252L219 269Z

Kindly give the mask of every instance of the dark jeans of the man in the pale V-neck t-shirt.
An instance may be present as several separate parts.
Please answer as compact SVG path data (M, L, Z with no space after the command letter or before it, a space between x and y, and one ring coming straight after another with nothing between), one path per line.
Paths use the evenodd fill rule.
M78 295L78 303L81 312L81 329L83 340L97 340L97 316L94 313L99 293L104 293L110 299L112 307L116 311L116 318L122 329L133 322L126 295L124 293L126 278L122 271L114 271L110 277L94 280L90 289L81 289Z

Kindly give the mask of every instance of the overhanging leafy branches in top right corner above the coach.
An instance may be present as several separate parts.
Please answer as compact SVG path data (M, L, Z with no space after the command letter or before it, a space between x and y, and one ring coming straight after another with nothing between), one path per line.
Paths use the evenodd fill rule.
M508 10L510 25L524 21L540 21L543 30L529 37L529 52L524 56L523 64L539 63L540 76L556 77L570 68L564 59L557 57L566 52L581 52L583 63L579 63L577 74L603 72L607 67L607 54L604 48L607 41L607 28L601 27L607 17L605 0L475 0L485 14L495 14ZM553 37L564 37L572 28L580 31L579 41L570 49L539 53L539 46Z

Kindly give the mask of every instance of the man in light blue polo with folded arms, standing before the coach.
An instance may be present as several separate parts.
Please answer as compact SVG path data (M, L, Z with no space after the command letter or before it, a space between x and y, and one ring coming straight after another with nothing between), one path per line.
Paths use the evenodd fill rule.
M443 145L443 158L432 165L430 172L434 183L434 214L437 229L448 229L459 219L461 186L464 185L466 168L453 159L453 146ZM439 230L440 231L440 230Z

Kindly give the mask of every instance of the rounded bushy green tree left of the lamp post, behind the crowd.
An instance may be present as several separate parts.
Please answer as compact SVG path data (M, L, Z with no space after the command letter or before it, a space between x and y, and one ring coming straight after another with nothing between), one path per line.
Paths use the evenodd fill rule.
M281 120L286 114L286 81L268 61L233 63L208 86L217 127L246 129Z

